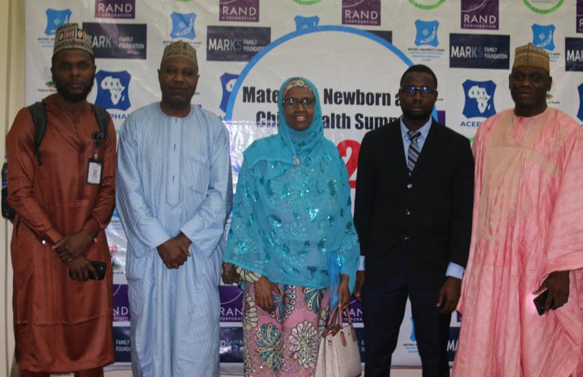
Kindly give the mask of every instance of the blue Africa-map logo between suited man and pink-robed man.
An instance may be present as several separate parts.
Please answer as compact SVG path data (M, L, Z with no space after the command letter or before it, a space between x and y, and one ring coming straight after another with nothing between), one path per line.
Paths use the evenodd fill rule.
M474 81L466 80L462 84L464 88L464 117L467 119L483 118L486 119L496 114L494 108L494 92L496 84L492 80ZM477 126L480 122L468 121L462 122L462 126Z

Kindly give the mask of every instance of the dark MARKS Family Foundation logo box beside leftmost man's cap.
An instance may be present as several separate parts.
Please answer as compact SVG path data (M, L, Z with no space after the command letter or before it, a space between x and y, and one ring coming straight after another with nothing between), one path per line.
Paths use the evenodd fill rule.
M147 25L145 23L83 23L93 37L95 58L145 59Z

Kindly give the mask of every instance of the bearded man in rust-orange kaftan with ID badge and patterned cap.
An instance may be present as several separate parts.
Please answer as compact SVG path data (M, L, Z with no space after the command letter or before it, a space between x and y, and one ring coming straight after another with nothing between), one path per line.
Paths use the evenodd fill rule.
M14 332L20 376L103 375L114 361L112 272L104 228L115 205L115 129L100 132L86 97L93 86L91 36L76 24L56 32L56 94L43 99L46 131L38 156L23 108L7 136ZM100 136L104 136L100 140ZM90 165L93 164L93 165ZM91 169L90 169L91 167ZM106 263L93 280L89 261Z

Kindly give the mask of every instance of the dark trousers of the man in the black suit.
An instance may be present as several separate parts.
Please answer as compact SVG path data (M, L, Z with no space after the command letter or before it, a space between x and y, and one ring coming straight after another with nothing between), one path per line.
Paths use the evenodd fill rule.
M438 289L422 289L412 284L401 261L387 282L366 284L362 289L365 341L365 376L390 376L391 356L398 341L398 330L405 315L407 296L423 377L449 377L447 341L451 314L442 315L436 307Z

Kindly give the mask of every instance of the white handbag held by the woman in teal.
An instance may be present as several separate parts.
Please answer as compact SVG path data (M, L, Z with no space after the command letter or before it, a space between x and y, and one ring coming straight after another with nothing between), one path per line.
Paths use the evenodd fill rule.
M356 377L362 372L353 321L348 309L344 311L348 318L346 326L339 306L330 314L326 330L320 339L315 377ZM334 322L336 323L333 324Z

